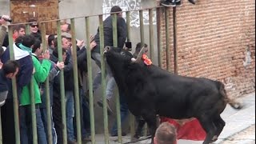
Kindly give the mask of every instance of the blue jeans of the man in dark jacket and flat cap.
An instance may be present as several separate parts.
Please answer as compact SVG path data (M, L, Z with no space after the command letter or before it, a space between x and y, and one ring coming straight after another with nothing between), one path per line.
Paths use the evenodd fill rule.
M67 138L74 141L74 95L73 91L65 91L66 94L66 130Z

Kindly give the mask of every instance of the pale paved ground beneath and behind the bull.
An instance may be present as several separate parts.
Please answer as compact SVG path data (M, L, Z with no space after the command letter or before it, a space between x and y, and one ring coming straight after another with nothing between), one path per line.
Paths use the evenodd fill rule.
M242 110L234 110L230 106L222 113L226 122L222 134L216 144L255 144L255 93L248 94L241 101L244 104ZM116 137L110 137L110 143L115 144ZM123 142L129 142L130 136L122 138ZM96 136L97 144L104 144L102 134ZM136 143L150 143L150 140ZM178 144L202 144L202 141L178 140Z

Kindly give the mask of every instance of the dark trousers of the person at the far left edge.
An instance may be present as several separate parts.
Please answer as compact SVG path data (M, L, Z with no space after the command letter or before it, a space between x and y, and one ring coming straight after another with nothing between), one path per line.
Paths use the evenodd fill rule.
M2 118L2 143L15 143L14 128L14 102L13 99L6 99L5 105L1 107Z

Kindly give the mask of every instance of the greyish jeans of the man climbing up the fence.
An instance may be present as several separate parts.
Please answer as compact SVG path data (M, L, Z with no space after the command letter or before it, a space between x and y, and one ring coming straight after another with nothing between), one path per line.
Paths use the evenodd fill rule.
M97 66L100 69L102 69L101 54L94 52L92 53L91 57L94 59ZM105 66L106 66L106 78L109 78L106 82L106 99L110 99L113 97L113 94L114 94L115 81L109 66L107 64ZM99 71L94 78L93 90L94 91L97 90L98 87L101 85L101 83L102 83L102 71Z

